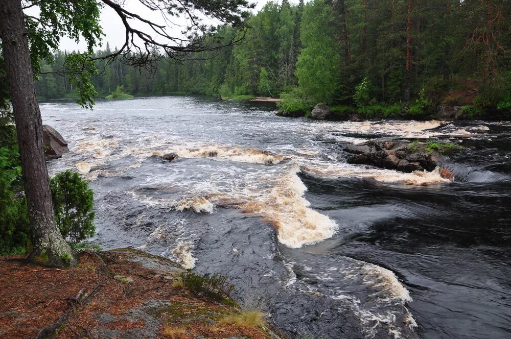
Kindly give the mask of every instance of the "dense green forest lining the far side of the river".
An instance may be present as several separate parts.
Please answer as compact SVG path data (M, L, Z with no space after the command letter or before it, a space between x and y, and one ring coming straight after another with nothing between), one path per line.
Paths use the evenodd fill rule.
M462 89L477 91L480 108L511 110L510 20L506 0L268 2L248 20L240 44L185 61L162 59L154 73L98 62L94 84L100 95L123 85L131 94L281 96L290 111L318 102L457 105L462 98L449 92ZM208 39L227 43L240 34L220 26ZM51 74L65 59L59 51L42 65L48 74L39 76L39 98L73 93L65 78Z

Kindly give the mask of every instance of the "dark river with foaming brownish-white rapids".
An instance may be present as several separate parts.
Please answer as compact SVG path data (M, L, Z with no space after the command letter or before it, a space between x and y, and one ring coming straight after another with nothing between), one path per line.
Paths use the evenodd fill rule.
M104 248L224 273L293 337L511 337L509 122L313 122L182 96L41 110L71 149L50 172L90 181ZM343 152L469 133L454 181Z

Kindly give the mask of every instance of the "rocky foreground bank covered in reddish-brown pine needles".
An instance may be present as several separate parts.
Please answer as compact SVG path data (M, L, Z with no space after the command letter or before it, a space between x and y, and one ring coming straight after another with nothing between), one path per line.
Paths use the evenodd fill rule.
M131 249L69 270L0 257L0 338L279 338L238 307L200 297L176 263Z

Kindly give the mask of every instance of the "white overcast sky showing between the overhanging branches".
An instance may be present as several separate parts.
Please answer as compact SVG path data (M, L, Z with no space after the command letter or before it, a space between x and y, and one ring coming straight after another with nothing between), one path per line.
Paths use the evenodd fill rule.
M251 2L256 3L257 6L254 10L254 12L257 12L263 8L264 4L268 2L268 0L252 0ZM278 3L281 3L282 0L275 1ZM131 11L132 13L136 13L144 18L147 18L154 22L162 22L161 13L160 12L152 12L148 10L144 5L139 3L136 0L126 0L126 9ZM298 0L290 0L290 3L298 3ZM183 19L177 19L175 21L178 25L184 25L185 21ZM218 21L207 21L208 23L214 23L215 25L220 23ZM103 37L103 47L106 46L106 43L108 42L110 44L111 49L114 49L114 47L121 47L124 43L124 37L125 37L125 30L124 26L121 22L121 19L115 12L110 9L109 7L105 7L101 11L101 27L103 28L103 33L105 34L105 37ZM143 29L141 26L136 26L138 29ZM175 26L168 30L168 32L173 33L176 36L180 35L180 31L182 28L179 26ZM146 32L149 32L148 30L145 30ZM85 50L85 42L80 41L79 43L76 43L75 41L69 39L69 38L63 38L60 43L60 49L66 50L66 51L84 51Z

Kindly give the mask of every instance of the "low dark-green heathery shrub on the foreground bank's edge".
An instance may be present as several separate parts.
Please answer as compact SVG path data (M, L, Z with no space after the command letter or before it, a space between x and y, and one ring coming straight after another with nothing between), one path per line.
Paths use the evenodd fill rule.
M193 272L181 274L181 280L192 293L197 296L208 297L222 302L232 302L231 293L234 285L227 281L228 277L214 273L201 276Z

